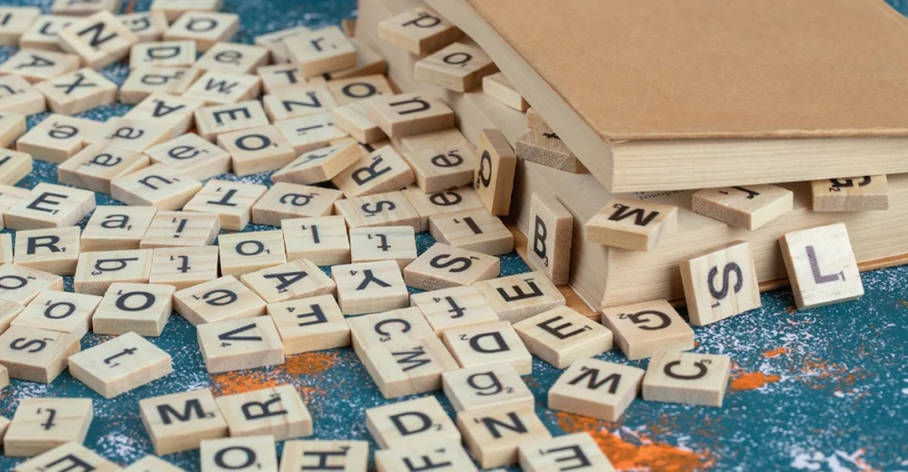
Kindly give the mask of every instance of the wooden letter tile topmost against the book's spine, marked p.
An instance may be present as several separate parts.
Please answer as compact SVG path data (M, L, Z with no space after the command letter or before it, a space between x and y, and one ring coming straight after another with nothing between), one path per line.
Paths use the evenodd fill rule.
M410 54L431 54L463 36L457 26L419 6L379 23L379 38Z

